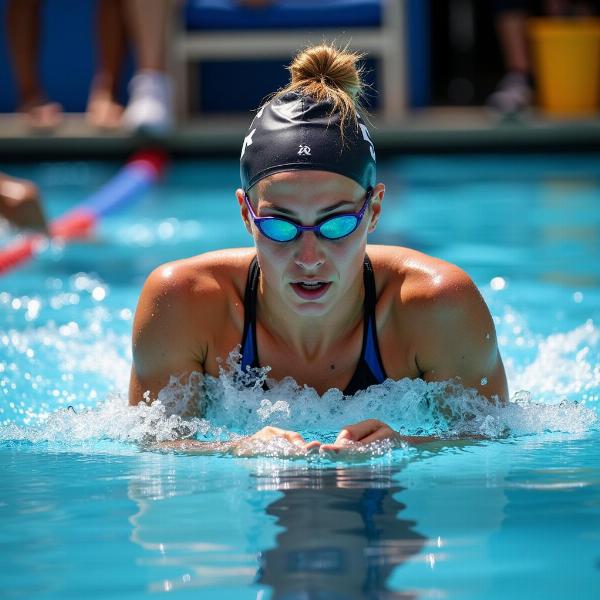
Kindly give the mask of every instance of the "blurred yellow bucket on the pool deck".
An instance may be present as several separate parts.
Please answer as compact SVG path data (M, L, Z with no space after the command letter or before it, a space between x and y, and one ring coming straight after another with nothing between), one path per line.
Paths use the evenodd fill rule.
M529 20L540 108L585 117L600 109L600 19Z

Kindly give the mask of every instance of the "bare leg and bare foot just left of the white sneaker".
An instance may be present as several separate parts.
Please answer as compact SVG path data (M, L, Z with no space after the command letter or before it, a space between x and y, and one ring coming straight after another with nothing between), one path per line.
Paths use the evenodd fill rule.
M94 127L119 127L123 107L115 94L125 55L125 14L122 0L97 2L97 67L88 99L87 116Z

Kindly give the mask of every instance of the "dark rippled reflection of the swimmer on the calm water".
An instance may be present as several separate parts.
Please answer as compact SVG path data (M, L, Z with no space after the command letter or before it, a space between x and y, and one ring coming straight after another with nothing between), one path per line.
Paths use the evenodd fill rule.
M287 469L257 475L259 489L283 491L267 507L285 529L262 555L260 583L275 599L413 598L386 589L392 569L425 538L398 513L403 488L391 467Z

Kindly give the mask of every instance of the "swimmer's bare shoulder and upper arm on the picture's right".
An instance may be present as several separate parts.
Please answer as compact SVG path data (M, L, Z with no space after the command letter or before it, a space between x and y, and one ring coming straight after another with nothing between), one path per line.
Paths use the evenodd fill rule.
M390 327L410 340L421 376L458 377L488 398L508 398L494 322L469 275L409 248L373 246L368 253Z

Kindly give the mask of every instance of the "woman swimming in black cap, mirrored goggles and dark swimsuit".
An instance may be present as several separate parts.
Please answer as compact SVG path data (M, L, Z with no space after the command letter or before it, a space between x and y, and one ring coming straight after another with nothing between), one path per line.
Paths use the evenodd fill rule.
M494 323L469 276L416 250L367 244L385 187L361 117L359 58L308 48L293 60L290 84L257 112L236 191L254 246L149 276L133 325L130 404L147 391L156 399L173 375L217 377L240 345L244 370L268 365L273 379L293 377L319 394L354 394L388 378L458 378L492 402L508 399ZM249 439L331 452L402 441L368 417L333 444L277 427ZM186 450L202 444L182 441Z

